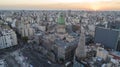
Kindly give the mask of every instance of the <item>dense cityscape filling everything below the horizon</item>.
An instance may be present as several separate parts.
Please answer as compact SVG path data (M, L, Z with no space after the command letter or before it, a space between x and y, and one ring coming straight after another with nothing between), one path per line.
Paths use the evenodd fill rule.
M0 67L120 67L120 11L0 10Z

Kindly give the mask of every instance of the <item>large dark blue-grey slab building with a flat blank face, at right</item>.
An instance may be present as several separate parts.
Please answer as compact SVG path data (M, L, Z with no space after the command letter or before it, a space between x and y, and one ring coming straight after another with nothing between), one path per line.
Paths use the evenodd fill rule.
M120 50L120 30L96 27L95 43L101 43L107 49Z

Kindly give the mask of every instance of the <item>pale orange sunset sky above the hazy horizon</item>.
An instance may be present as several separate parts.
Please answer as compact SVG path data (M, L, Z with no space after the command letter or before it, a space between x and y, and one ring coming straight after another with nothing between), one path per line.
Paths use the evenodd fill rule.
M0 9L120 10L120 0L0 0Z

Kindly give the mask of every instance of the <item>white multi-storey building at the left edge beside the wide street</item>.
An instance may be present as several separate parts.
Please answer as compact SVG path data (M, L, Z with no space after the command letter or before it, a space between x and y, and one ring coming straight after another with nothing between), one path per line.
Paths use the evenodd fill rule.
M0 49L17 45L16 33L12 29L0 31Z

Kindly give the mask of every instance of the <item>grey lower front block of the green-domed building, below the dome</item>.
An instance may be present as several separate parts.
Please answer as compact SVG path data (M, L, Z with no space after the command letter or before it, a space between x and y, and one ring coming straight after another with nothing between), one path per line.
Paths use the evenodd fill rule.
M59 39L55 40L54 52L57 56L58 62L66 63L72 61L77 43L76 39L72 42L65 42L64 40Z

